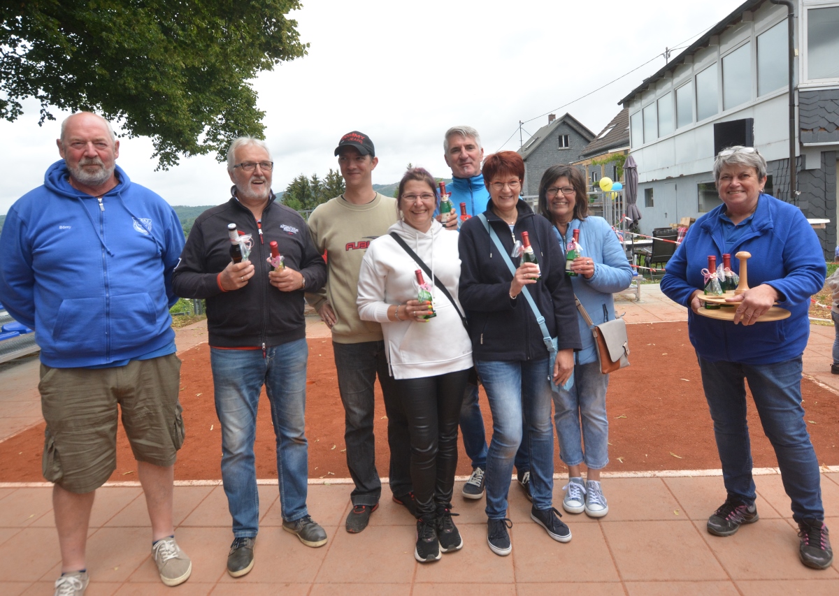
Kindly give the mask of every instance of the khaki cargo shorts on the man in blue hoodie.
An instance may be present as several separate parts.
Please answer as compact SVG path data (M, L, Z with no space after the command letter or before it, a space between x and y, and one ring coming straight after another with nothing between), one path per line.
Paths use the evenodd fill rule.
M134 459L168 467L184 443L175 354L102 369L41 365L44 478L71 493L96 490L117 469L117 404Z

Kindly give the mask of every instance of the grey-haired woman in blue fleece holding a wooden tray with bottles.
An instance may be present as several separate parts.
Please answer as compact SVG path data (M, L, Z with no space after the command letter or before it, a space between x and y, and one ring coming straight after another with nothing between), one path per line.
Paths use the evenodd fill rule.
M801 407L801 355L810 334L810 296L825 282L821 244L794 205L763 193L766 160L751 147L717 155L714 179L722 205L690 226L667 263L661 290L690 308L690 343L702 374L726 487L725 503L708 519L715 536L731 536L758 521L752 455L746 423L746 388L778 458L781 478L799 526L801 562L830 567L831 551L821 505L819 464ZM700 316L708 257L747 251L751 289L729 301L732 321ZM732 263L732 267L737 267ZM778 303L788 319L761 315Z

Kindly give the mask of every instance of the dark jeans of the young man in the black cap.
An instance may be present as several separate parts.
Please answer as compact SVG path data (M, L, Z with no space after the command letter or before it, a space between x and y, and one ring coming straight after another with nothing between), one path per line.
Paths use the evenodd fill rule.
M390 447L390 490L405 495L411 489L411 448L408 419L399 402L383 341L358 344L332 342L338 389L344 405L344 444L347 447L347 468L356 487L350 494L353 505L376 505L382 495L382 481L376 469L376 441L373 417L376 400L373 386L378 375L388 416Z

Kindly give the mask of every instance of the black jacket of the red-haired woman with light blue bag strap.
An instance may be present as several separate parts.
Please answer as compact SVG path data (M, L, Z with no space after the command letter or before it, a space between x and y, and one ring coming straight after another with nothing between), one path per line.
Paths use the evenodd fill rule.
M519 200L519 218L513 228L516 240L528 232L530 246L539 261L542 278L526 286L539 312L545 317L550 336L558 338L560 350L580 350L574 289L565 276L565 255L556 241L550 222L534 214ZM489 225L509 255L513 236L509 226L491 209L484 211ZM475 360L540 360L548 357L542 332L524 296L510 299L513 275L498 254L498 248L477 217L466 220L458 242L461 257L460 300L469 317L472 357ZM520 258L511 257L519 267Z

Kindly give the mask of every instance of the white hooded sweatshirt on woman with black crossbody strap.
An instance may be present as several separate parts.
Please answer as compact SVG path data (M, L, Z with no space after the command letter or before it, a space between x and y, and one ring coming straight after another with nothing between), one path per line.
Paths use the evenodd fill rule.
M437 221L423 233L403 221L370 243L358 276L358 314L362 320L382 324L388 364L395 379L414 379L463 371L472 366L472 342L461 317L440 289L433 288L432 304L436 317L427 322L392 321L388 308L416 300L419 293L415 271L420 265L396 243L396 232L405 244L422 259L440 279L452 298L457 300L461 259L457 251L458 234L446 231ZM425 282L434 285L433 277L423 273ZM457 302L457 308L461 303Z

